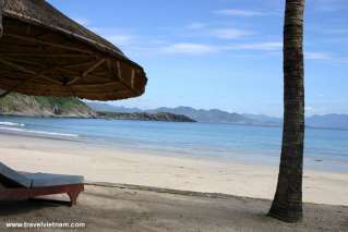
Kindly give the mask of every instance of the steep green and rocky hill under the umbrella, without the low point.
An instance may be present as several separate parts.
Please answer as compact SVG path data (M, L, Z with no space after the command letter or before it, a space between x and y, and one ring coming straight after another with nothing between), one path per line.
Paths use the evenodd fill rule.
M0 114L27 117L95 118L96 113L77 98L36 97L10 94L0 98Z

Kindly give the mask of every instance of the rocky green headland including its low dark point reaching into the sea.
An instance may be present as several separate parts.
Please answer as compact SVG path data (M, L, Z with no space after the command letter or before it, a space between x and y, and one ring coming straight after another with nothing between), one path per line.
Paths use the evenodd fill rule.
M38 97L21 94L10 94L0 98L0 114L24 117L69 117L69 118L101 118L115 120L141 120L165 122L195 122L189 117L167 112L96 112L89 106L74 97Z

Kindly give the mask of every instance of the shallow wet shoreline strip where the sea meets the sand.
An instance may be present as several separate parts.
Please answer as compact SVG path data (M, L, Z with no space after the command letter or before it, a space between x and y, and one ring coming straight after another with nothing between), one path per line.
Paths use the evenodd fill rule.
M230 152L228 157L226 156L196 156L193 152L187 150L175 151L167 147L140 147L134 143L124 143L121 142L113 143L108 139L95 141L92 137L81 137L76 134L60 134L60 133L51 133L51 132L38 132L33 133L31 131L16 131L11 127L1 127L0 126L0 135L7 136L21 136L25 138L41 138L49 141L62 141L62 142L71 142L71 143L81 143L88 144L89 146L107 149L107 150L120 150L121 152L127 152L129 155L140 154L140 155L151 155L151 156L159 156L159 157L172 157L172 158L183 158L183 159L193 159L193 160L203 160L209 162L229 162L229 163L239 163L245 166L261 166L268 168L278 168L278 163L280 161L279 155L266 155L266 154L253 154L253 152ZM332 164L336 163L336 167ZM338 163L338 164L337 164ZM343 169L341 167L346 163L346 161L337 161L331 160L329 158L315 158L315 157L307 157L304 155L304 169L309 171L316 172L327 172L327 173L340 173L348 174L348 169ZM322 164L322 167L320 167ZM348 162L347 162L348 166ZM339 167L339 169L335 169Z

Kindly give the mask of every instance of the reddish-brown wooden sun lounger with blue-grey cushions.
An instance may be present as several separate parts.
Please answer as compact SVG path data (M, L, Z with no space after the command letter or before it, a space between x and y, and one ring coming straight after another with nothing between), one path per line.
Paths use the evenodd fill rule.
M16 172L0 162L0 199L31 199L37 196L68 194L70 205L76 205L79 194L84 190L80 175Z

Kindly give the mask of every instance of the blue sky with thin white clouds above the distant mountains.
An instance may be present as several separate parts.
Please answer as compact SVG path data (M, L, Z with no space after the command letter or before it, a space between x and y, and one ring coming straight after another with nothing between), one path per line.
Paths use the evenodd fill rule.
M144 66L146 93L111 101L283 114L285 0L49 0ZM348 113L348 1L307 0L307 115Z

